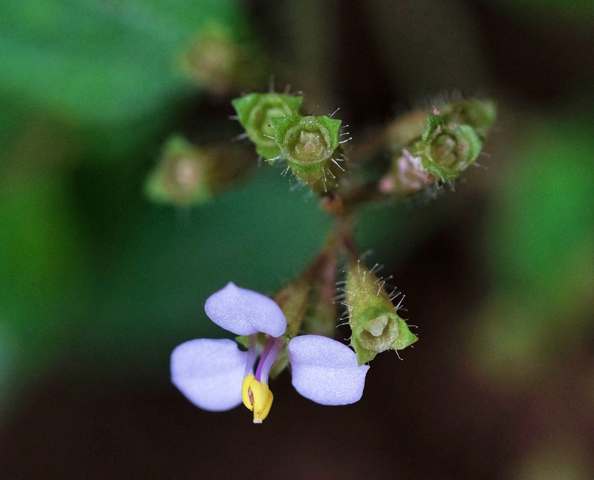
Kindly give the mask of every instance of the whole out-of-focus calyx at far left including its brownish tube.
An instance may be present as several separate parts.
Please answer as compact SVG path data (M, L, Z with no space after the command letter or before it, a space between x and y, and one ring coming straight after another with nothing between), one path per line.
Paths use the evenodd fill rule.
M163 146L144 191L156 203L204 203L217 190L245 175L252 163L241 147L227 143L196 147L184 137L173 135Z

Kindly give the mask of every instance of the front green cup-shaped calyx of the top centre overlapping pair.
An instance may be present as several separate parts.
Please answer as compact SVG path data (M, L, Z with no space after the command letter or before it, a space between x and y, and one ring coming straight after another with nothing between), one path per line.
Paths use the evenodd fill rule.
M280 155L287 160L293 173L314 191L327 191L336 184L336 174L330 170L328 178L327 173L328 163L339 166L337 162L342 156L339 152L333 158L339 147L341 123L328 116L291 115L273 119L274 138L280 147Z

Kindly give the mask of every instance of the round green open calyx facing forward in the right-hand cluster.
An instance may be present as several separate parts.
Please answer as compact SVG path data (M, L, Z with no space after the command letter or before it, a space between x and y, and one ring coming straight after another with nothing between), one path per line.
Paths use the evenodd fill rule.
M453 180L466 170L481 152L482 141L470 125L446 123L445 115L430 114L422 141L422 163L428 172Z

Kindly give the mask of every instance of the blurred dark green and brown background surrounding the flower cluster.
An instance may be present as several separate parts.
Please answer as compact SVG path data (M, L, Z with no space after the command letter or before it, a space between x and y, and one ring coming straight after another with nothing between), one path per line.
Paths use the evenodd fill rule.
M415 348L350 406L283 372L256 427L185 400L170 352L331 219L255 154L198 206L143 185L170 135L241 133L230 99L270 74L355 140L452 91L499 115L455 192L361 214ZM594 478L593 107L591 0L2 1L0 477Z

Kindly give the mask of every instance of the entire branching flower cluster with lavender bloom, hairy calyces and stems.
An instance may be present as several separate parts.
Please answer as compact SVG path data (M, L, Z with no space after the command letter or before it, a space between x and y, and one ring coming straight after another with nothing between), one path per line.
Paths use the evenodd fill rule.
M457 99L415 110L349 152L343 149L350 137L341 140L348 135L341 133L342 121L303 111L301 96L251 93L232 103L257 154L270 164L286 162L285 172L320 197L336 227L307 269L272 298L233 283L213 293L206 313L235 334L235 342L182 343L171 356L172 381L206 410L244 403L254 423L267 417L273 403L268 380L289 365L302 396L322 405L357 402L368 362L418 340L399 315L402 299L394 305L399 293L388 293L388 279L377 276L377 266L366 267L356 248L358 207L410 198L459 178L481 152L495 120L494 102ZM230 151L198 149L173 137L147 181L147 194L184 205L208 200L247 170L245 154ZM372 172L378 158L387 159L387 165ZM225 169L228 174L222 175ZM340 320L352 331L352 349L331 338L340 305L345 314Z

